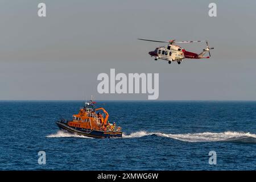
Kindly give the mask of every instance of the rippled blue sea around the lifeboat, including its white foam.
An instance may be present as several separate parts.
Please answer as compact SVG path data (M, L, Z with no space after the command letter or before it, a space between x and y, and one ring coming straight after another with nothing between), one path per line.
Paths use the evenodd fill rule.
M82 101L0 101L1 170L255 170L256 102L97 102L123 138L59 131ZM38 152L46 164L38 164ZM209 164L216 151L217 164Z

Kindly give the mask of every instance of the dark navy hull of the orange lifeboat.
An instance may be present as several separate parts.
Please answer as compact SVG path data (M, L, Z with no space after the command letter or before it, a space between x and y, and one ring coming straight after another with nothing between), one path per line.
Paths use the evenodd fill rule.
M84 130L80 127L68 126L65 122L56 122L60 130L71 134L83 135L92 138L120 138L122 137L121 131L98 131L98 130Z

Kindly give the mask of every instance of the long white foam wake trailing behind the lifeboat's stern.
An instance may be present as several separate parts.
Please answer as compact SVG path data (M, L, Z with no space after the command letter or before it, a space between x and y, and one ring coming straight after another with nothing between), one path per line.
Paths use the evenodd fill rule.
M156 135L158 137L167 137L181 140L183 142L250 142L256 143L256 135L250 133L242 133L236 131L226 131L224 133L188 133L188 134L164 134L164 133L148 133L146 131L138 131L129 135L123 134L123 138L139 138L148 135Z

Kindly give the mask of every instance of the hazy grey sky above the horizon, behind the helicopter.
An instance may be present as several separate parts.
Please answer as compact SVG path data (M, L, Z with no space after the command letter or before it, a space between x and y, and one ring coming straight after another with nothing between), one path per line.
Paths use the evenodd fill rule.
M38 17L38 3L47 17ZM217 17L208 16L210 2ZM147 100L98 94L97 75L159 73L159 100L256 100L255 1L0 1L0 100ZM156 40L209 40L210 59L154 61ZM180 44L200 53L204 43Z

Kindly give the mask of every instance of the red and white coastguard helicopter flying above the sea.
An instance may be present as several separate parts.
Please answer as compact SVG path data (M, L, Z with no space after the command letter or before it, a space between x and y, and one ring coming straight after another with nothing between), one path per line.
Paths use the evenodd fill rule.
M151 57L155 57L155 60L162 59L167 60L169 64L172 61L177 61L177 64L180 64L183 59L203 59L203 58L210 58L210 49L207 40L198 40L198 41L181 41L176 42L175 40L166 41L158 41L158 40L148 40L148 39L138 39L138 40L146 40L150 42L160 42L160 43L168 43L167 46L156 47L155 51L150 51L148 54ZM188 52L184 48L174 45L174 43L195 43L195 42L205 42L207 44L207 48L203 49L203 52L197 54L193 52ZM205 53L209 53L209 56L204 57Z

